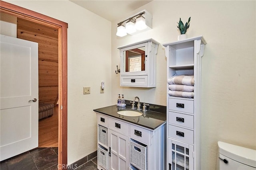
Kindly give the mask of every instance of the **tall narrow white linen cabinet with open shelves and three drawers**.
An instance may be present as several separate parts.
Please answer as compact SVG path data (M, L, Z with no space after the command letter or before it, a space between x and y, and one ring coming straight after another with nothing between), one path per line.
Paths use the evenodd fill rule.
M163 45L167 79L178 75L194 76L190 98L170 96L167 84L167 167L169 170L197 170L200 169L201 59L206 41L199 36Z

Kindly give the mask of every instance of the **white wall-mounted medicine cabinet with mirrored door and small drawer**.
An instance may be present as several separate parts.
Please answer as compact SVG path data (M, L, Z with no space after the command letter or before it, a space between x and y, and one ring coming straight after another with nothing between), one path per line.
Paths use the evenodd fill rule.
M156 87L158 42L147 39L120 49L120 86Z

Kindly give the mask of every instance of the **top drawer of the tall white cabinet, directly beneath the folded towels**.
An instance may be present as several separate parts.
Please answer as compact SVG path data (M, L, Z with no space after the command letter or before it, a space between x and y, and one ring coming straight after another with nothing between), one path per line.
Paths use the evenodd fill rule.
M169 110L194 113L194 101L169 98Z

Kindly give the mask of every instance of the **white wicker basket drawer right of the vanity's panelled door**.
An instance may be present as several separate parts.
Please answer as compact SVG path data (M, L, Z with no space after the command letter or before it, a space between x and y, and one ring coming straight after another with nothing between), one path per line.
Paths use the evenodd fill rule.
M130 163L140 169L147 169L147 146L138 141L130 141Z

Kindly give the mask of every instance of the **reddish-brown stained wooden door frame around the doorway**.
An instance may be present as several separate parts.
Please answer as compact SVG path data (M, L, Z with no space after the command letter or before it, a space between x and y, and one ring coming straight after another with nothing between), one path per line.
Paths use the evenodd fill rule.
M58 29L58 169L67 169L67 33L68 23L0 0L0 12Z

